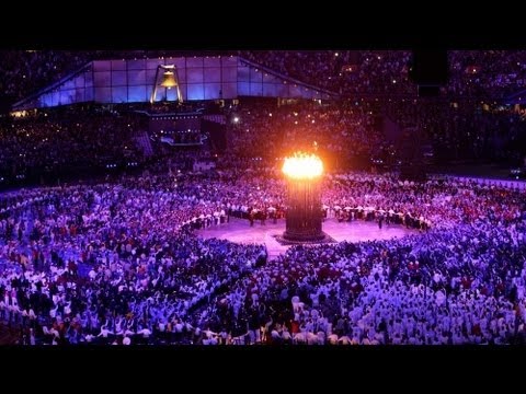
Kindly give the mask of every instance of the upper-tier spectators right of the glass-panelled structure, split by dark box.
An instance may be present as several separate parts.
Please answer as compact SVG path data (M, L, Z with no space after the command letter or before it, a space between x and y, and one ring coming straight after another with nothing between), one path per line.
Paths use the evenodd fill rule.
M240 56L268 69L343 95L415 95L410 50L245 50ZM524 89L522 50L449 50L448 81L454 97L502 99Z

